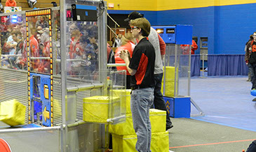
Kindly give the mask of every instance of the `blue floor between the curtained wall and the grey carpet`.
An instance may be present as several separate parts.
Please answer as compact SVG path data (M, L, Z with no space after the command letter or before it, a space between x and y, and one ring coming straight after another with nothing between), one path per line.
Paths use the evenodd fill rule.
M256 132L256 102L250 95L251 82L247 76L192 77L191 98L205 116L192 117L224 126ZM198 111L191 105L191 114Z

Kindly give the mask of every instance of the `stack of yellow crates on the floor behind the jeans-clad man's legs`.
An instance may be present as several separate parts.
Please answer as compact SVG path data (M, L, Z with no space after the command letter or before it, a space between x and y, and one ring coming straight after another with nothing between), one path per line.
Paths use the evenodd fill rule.
M123 92L122 92L123 91ZM114 96L126 99L126 122L109 126L112 133L113 152L136 151L137 135L133 129L133 118L130 112L130 90L114 91ZM124 98L124 96L126 98ZM151 121L151 151L169 151L169 136L166 132L166 112L150 109Z

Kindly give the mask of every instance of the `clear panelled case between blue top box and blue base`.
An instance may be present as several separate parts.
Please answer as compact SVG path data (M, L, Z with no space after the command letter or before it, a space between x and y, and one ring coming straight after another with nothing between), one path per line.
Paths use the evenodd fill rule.
M170 97L189 96L189 45L166 44L163 94Z

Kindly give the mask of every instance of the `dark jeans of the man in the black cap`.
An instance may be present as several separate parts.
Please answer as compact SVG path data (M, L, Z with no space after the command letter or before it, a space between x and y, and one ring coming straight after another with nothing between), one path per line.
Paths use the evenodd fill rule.
M166 109L166 102L163 100L163 94L161 93L163 73L154 75L155 89L154 89L154 107L155 109L161 109L166 111L166 126L171 126L170 116Z

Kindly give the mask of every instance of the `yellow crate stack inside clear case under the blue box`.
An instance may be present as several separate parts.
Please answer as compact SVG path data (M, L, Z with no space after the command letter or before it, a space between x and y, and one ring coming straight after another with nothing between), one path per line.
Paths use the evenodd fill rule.
M163 81L164 81L165 73L166 73L166 83L165 83L165 92L163 93L163 85L164 85ZM175 67L166 66L166 71L163 73L162 87L161 87L161 92L165 96L168 96L168 97L174 96L174 82L175 82Z

